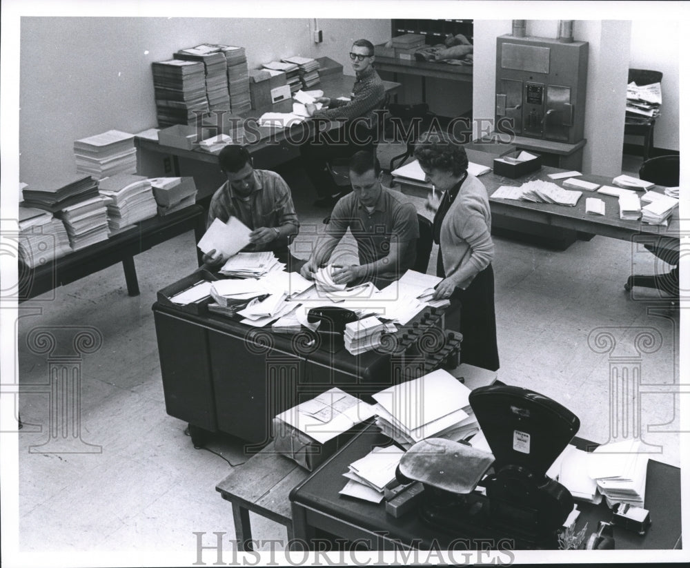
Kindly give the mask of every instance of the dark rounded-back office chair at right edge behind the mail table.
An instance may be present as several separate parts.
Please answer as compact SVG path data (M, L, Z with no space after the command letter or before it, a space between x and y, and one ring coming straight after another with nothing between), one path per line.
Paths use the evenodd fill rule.
M644 161L640 168L640 179L660 186L676 187L680 182L680 156L658 156ZM645 244L644 248L673 266L671 271L660 275L638 275L628 277L624 288L630 291L633 286L655 288L678 297L680 293L678 263L680 262L680 248L678 240L659 237L658 244Z

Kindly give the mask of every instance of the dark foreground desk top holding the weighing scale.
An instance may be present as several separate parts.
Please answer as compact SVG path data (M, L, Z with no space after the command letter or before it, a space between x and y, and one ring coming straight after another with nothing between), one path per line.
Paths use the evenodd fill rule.
M346 478L342 474L348 465L364 457L372 447L390 443L390 438L377 427L368 427L351 440L341 451L322 465L290 493L293 502L293 530L296 539L310 542L313 538L333 537L357 540L357 545L373 550L460 550L486 545L473 542L462 535L443 533L425 525L416 511L393 518L385 511L384 503L373 504L338 494ZM580 440L581 444L586 441ZM680 545L680 469L649 460L645 507L650 511L651 527L640 536L614 527L616 549L673 549ZM610 520L611 511L600 505L579 503L580 517L576 527L588 523L588 534L595 531L600 520ZM491 538L491 536L489 536ZM336 541L335 545L341 544ZM435 545L432 545L435 543ZM509 542L499 542L500 549L508 549ZM495 545L493 549L496 549Z

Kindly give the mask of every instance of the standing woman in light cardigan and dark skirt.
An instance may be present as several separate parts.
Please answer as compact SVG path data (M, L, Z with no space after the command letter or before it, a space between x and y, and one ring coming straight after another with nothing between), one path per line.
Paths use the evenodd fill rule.
M462 362L496 371L489 195L484 184L467 173L465 149L451 135L425 133L415 147L415 158L434 188L426 206L435 211L436 271L444 279L436 286L434 297L460 304ZM439 191L443 192L441 199ZM451 309L449 316L453 313ZM457 329L454 323L449 322L451 329Z

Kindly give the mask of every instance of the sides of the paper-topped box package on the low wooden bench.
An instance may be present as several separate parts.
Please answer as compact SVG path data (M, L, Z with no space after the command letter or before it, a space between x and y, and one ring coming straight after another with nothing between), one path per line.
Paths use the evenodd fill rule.
M331 438L325 444L319 444L314 438L293 428L280 418L273 418L273 448L307 471L314 471L351 440L353 435L364 427L364 424L366 422L357 424L352 429Z

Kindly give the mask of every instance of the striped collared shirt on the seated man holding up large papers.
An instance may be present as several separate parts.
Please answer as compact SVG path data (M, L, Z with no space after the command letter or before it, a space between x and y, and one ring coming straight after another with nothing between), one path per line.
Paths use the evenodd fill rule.
M211 198L206 225L210 226L216 218L226 223L230 216L237 217L252 230L294 225L296 234L299 228L288 184L277 173L269 170L254 170L254 189L248 199L239 197L230 182L225 182L218 188ZM286 239L279 238L263 245L248 245L244 250L279 251L285 248Z

